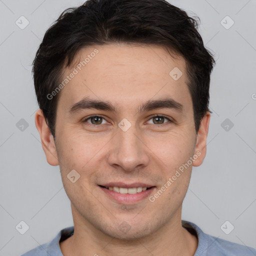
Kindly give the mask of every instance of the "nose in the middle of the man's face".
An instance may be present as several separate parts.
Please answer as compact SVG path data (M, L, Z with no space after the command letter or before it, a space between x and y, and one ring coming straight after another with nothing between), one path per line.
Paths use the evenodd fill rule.
M135 125L123 131L119 127L112 138L108 153L108 164L124 171L133 171L149 162L147 147L136 132Z

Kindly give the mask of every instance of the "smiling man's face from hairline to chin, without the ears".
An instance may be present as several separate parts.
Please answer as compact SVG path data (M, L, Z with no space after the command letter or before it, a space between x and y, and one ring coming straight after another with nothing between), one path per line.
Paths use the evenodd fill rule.
M95 48L98 53L90 55ZM185 61L172 58L160 46L109 44L82 49L76 64L88 54L95 56L81 70L74 66L78 73L59 92L55 164L60 166L74 224L112 237L142 238L180 219L192 165L203 158L189 161L197 154L197 137ZM178 79L177 69L169 74L174 67L183 73ZM66 69L63 80L72 71L73 67ZM107 102L115 111L72 108L82 99ZM180 107L141 107L147 101L167 99ZM189 166L183 165L181 172L185 163ZM67 178L71 170L80 175L76 180L76 172L72 178L69 174L75 182ZM101 187L110 182L153 187L117 194Z

